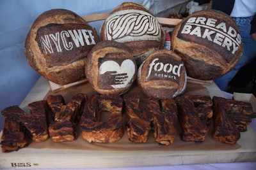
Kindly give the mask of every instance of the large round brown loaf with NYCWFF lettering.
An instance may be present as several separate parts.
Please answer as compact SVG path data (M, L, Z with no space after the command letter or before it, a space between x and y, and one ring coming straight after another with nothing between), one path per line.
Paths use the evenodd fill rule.
M54 9L45 11L31 26L25 52L33 69L58 85L83 80L84 58L99 36L76 13Z

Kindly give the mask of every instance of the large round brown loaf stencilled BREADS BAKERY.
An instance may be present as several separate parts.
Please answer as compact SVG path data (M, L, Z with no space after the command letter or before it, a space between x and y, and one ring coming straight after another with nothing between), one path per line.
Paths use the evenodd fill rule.
M172 50L182 57L188 76L213 80L236 66L243 45L231 17L221 11L204 10L189 15L175 27Z

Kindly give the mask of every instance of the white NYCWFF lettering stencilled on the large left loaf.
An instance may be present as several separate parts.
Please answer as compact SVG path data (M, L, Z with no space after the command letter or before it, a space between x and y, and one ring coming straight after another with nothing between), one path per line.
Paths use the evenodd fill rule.
M79 24L72 24L74 27ZM56 52L65 52L81 46L95 45L95 37L93 31L90 29L67 29L63 31L58 27L61 25L50 24L47 27L38 29L36 39L40 44L42 52L45 54L52 54ZM79 27L84 27L79 25ZM48 31L49 30L49 31ZM51 32L53 30L53 32ZM56 31L56 32L55 32Z

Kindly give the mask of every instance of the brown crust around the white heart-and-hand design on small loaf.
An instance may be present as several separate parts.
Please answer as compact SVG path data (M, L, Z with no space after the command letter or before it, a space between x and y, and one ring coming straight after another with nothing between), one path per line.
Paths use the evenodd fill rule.
M131 80L124 85L124 87L115 89L111 87L111 81L109 81L108 76L104 76L99 78L100 76L100 60L106 61L115 61L118 62L118 65L122 66L122 61L131 60L133 62L134 67L127 67L127 70L134 69L134 74L131 77ZM108 67L113 67L112 65L108 65ZM113 69L115 71L115 69ZM86 58L85 64L85 73L88 81L92 85L93 89L95 89L100 94L124 94L127 90L130 89L132 83L136 80L137 77L137 66L136 62L132 56L132 54L127 51L124 45L121 43L117 43L115 41L100 41L97 45L93 47L93 49L88 54Z

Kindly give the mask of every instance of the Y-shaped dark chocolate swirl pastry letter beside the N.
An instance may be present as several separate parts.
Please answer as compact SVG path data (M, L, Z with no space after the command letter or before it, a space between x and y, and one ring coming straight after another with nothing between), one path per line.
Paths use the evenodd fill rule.
M53 142L74 141L77 139L77 124L86 102L86 94L76 94L65 104L61 95L49 95L49 104L54 120L49 125L49 134Z

